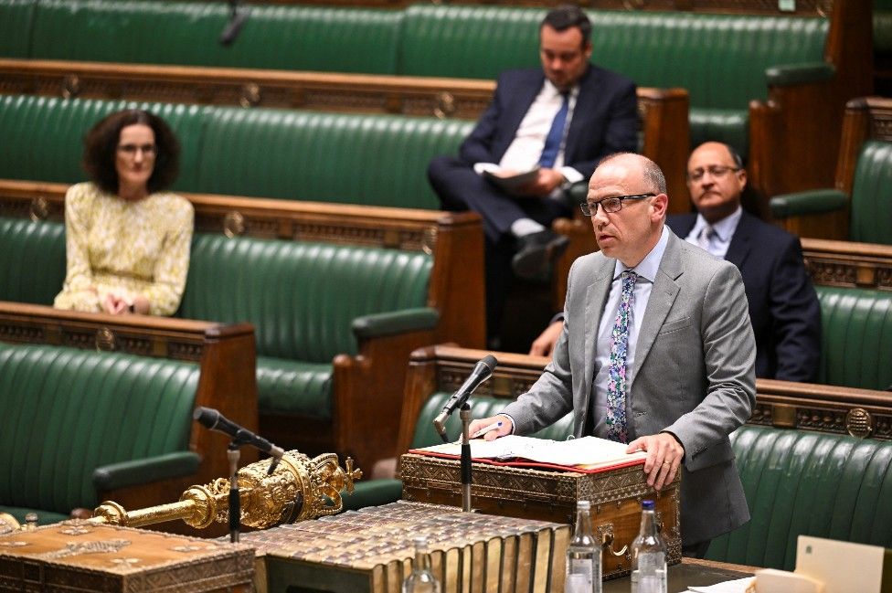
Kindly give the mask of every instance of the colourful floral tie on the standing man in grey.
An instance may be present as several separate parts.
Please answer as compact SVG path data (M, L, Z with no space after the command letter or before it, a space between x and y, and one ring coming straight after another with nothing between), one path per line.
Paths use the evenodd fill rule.
M611 364L607 377L607 438L620 442L628 441L626 431L626 354L629 345L629 321L632 316L632 291L638 274L624 271L620 275L622 293L620 307L613 322L613 342L611 344Z

